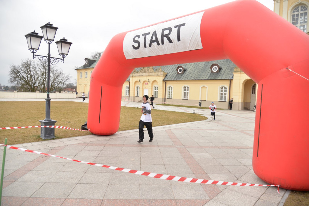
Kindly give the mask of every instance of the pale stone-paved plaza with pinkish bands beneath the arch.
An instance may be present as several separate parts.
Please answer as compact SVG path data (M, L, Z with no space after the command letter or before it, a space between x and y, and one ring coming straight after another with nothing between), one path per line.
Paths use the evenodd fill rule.
M139 107L140 103L122 102L122 106ZM193 110L162 105L155 105L155 109L190 113ZM137 143L138 129L134 129L116 132L111 136L90 134L14 146L85 162L159 174L267 184L252 170L255 112L217 110L216 120L212 120L210 110L194 110L209 119L154 127L152 142L148 142L149 137L145 132L144 142ZM136 124L138 128L138 122ZM3 147L1 150L3 151ZM1 162L2 156L3 153L0 155ZM269 206L283 205L289 193L284 189L277 193L277 187L208 185L156 179L7 149L2 205Z

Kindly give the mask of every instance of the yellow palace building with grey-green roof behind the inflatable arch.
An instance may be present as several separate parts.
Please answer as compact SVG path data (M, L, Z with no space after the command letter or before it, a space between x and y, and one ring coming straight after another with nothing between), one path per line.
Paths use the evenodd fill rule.
M275 13L309 34L309 0L273 2ZM84 65L76 69L78 96L83 92L88 95L91 72L98 60L86 58ZM198 106L201 102L202 107L209 107L214 102L218 108L228 109L229 99L233 98L232 110L251 110L257 89L256 82L241 68L224 59L135 68L123 84L121 99L139 102L143 95L154 95L154 103Z

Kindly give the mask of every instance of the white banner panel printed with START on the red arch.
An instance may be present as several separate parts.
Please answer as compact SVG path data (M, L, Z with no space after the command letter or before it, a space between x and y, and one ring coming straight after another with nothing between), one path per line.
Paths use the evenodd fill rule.
M201 19L204 12L128 32L123 40L126 59L202 49Z

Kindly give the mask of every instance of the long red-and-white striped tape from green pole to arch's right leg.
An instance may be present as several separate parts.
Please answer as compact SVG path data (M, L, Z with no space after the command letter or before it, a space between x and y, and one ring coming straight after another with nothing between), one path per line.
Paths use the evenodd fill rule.
M148 177L154 177L154 178L158 178L158 179L174 180L174 181L188 182L188 183L215 184L215 185L273 186L273 187L278 187L277 191L279 193L279 186L280 185L233 183L233 182L223 182L223 181L207 180L207 179L177 177L177 176L172 176L172 175L167 175L167 174L157 174L157 173L152 173L152 172L144 172L144 171L139 171L139 170L130 170L130 169L125 169L125 168L121 168L121 167L114 167L114 166L96 164L96 163L91 163L91 162L84 162L84 161L74 160L74 159L70 159L70 158L59 157L59 156L55 156L55 155L52 155L52 154L46 154L46 153L42 153L42 152L37 152L37 151L29 150L29 149L24 149L24 148L20 148L20 147L14 147L14 146L11 146L11 145L4 145L4 146L7 146L10 149L16 149L16 150L21 150L21 151L24 151L24 152L31 152L31 153L47 155L47 156L56 157L56 158L67 159L67 160L74 161L74 162L80 162L80 163L84 163L84 164L88 164L88 165L105 167L105 168L112 169L112 170L119 170L119 171L123 171L123 172L139 174L139 175L144 175L144 176L148 176Z

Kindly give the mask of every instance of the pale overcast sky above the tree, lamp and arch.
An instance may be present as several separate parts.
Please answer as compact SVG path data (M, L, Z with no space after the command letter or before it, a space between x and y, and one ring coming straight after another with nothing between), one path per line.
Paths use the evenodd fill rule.
M31 59L25 35L35 30L43 36L40 26L50 22L58 27L55 41L65 37L72 42L64 63L56 67L72 76L76 83L75 66L86 57L102 52L118 33L205 10L233 0L0 0L0 83L8 83L11 65ZM273 0L258 0L273 11ZM220 15L220 14L218 14ZM47 56L48 44L41 42L38 55ZM51 44L51 56L60 58L57 45Z

